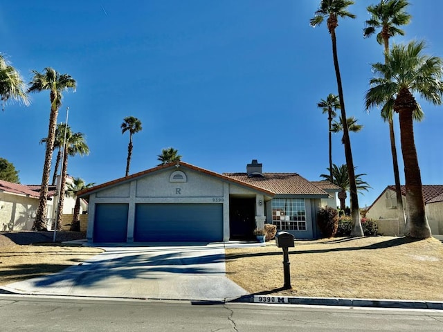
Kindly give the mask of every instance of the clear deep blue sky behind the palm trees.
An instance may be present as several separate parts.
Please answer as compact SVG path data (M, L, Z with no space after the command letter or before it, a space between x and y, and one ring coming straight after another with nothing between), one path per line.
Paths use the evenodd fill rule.
M388 124L379 110L364 109L370 64L383 61L374 37L363 39L376 0L359 0L356 19L336 30L347 116L364 128L351 134L357 173L372 189L359 196L370 205L394 183ZM426 53L443 57L443 1L410 1L405 37L425 39ZM126 116L143 122L134 136L131 173L155 167L174 147L182 160L214 172L245 172L253 158L264 172L297 172L309 180L327 173L327 116L316 103L337 93L326 25L309 26L316 0L3 1L0 52L21 72L53 67L78 88L64 93L58 122L69 107L69 125L87 136L89 156L69 159L69 174L103 183L125 175L129 136ZM432 22L432 27L431 27ZM21 183L42 181L49 117L48 92L24 107L0 112L0 156L19 170ZM437 133L442 107L422 102L415 123L424 184L442 184L443 154ZM403 163L395 118L401 183ZM341 135L333 136L333 161L345 163Z

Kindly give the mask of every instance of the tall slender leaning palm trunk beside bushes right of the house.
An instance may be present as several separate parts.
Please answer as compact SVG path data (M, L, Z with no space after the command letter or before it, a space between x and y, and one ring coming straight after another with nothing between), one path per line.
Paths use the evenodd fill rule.
M359 198L357 196L357 187L355 183L354 162L352 161L351 142L349 138L349 130L347 128L347 117L345 112L345 101L343 99L343 87L341 84L340 66L338 65L337 45L335 29L329 30L332 39L332 55L334 56L334 68L337 79L338 97L340 99L341 118L343 125L343 143L345 146L345 158L347 166L347 174L349 176L350 187L350 201L351 201L351 216L352 216L352 231L351 237L363 237L363 228L361 227Z

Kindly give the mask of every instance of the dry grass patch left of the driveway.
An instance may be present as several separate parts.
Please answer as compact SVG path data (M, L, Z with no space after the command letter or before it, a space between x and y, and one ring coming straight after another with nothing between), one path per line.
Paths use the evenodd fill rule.
M0 285L55 273L102 251L61 243L0 246Z

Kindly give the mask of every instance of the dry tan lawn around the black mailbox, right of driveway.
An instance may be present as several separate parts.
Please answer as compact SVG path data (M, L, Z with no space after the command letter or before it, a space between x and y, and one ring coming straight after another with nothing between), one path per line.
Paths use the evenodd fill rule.
M300 297L443 300L443 243L397 237L296 241L289 248L291 285L282 249L226 249L228 277L250 293Z

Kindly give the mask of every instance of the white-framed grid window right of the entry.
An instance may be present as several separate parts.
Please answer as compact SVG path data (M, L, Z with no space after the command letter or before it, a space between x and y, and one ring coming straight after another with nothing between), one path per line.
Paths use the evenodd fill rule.
M273 199L271 206L272 223L278 230L307 230L304 199Z

